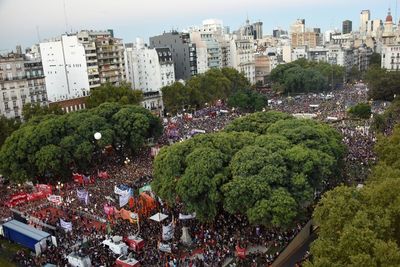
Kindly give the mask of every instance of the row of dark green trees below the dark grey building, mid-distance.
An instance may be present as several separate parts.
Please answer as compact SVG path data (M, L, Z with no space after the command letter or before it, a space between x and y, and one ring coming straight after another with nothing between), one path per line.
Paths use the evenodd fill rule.
M194 76L185 83L175 82L162 88L163 102L169 113L194 110L212 104L217 100L227 100L232 107L247 111L261 110L266 99L250 89L250 83L233 68L211 69ZM256 103L253 103L256 101Z

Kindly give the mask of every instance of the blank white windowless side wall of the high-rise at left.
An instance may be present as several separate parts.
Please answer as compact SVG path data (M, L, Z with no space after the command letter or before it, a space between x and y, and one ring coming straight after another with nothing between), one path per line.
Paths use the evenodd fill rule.
M76 35L40 43L48 99L57 102L89 94L84 46Z

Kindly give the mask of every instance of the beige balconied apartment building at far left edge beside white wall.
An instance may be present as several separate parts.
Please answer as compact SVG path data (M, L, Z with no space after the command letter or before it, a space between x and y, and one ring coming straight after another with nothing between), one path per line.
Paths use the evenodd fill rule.
M0 56L0 116L21 118L26 103L47 104L40 60L26 58L21 49Z

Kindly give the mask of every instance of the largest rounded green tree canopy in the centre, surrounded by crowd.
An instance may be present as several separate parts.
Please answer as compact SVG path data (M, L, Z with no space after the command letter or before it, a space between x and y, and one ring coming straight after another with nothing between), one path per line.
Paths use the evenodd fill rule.
M152 188L200 220L218 212L269 227L293 224L336 174L345 148L338 132L279 112L254 113L226 130L161 149Z

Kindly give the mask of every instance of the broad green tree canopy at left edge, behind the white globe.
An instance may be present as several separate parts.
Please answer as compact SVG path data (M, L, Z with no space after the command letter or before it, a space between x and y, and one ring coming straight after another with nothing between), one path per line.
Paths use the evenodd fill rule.
M100 132L100 140L94 133ZM105 103L97 108L31 119L0 150L0 173L13 181L68 178L85 171L112 145L121 154L137 151L162 132L160 120L139 106Z

